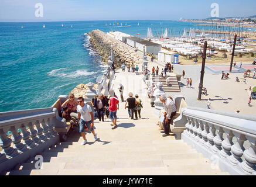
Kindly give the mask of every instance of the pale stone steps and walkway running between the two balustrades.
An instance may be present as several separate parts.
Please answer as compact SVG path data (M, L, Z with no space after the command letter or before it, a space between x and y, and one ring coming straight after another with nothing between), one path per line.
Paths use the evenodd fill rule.
M112 81L118 98L120 83L124 85L125 99L128 92L139 94L144 107L142 119L129 119L122 102L117 112L117 129L111 129L110 119L95 120L97 141L87 133L88 143L80 146L83 138L77 131L70 131L66 143L42 154L42 169L35 169L31 161L9 175L227 175L183 140L162 137L155 125L158 116L153 115L154 108L146 98L142 77L118 70Z

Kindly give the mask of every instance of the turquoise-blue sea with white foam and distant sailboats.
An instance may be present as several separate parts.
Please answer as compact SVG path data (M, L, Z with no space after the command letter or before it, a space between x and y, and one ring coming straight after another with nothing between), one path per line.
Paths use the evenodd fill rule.
M203 28L170 20L0 23L0 112L50 107L76 85L95 82L106 67L84 33L118 30L145 38L148 27L154 36L168 28L170 37Z

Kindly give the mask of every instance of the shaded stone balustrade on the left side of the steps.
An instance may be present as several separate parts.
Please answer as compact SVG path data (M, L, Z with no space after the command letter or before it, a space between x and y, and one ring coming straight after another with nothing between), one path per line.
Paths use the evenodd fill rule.
M53 108L1 112L0 172L9 171L55 145L59 141L55 122Z

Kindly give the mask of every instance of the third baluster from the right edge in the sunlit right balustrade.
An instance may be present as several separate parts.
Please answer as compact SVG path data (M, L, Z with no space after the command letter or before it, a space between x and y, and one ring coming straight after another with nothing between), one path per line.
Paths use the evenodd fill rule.
M230 157L231 155L231 146L233 146L233 142L232 139L234 137L234 134L231 130L227 130L227 129L223 129L224 132L226 133L227 137L225 138L225 140L223 140L221 142L221 146L223 147L223 149L220 151L220 156L222 158L227 158Z

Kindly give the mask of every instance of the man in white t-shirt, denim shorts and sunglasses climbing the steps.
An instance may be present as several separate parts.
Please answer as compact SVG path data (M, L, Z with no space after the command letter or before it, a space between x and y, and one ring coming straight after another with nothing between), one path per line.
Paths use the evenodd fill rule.
M86 140L86 133L84 133L84 127L87 126L88 130L90 130L93 133L94 140L97 140L97 134L94 132L94 117L93 117L93 111L91 110L90 105L87 105L84 103L84 98L80 97L77 99L78 106L77 106L77 112L78 112L78 121L80 124L80 133L83 137L84 141L81 143L81 145L85 145L87 143Z

